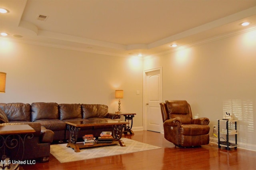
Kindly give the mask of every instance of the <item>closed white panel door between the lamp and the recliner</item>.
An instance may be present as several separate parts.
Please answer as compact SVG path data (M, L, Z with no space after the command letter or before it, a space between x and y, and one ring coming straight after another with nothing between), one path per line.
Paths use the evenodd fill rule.
M161 69L148 71L145 78L145 103L146 103L146 129L161 132L162 114L160 102L162 101Z

